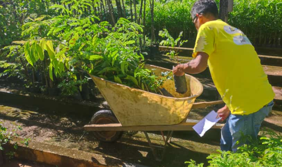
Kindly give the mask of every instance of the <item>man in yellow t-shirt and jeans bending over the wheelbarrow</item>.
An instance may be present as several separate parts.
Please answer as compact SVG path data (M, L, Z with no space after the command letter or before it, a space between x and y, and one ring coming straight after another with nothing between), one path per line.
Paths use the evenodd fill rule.
M177 65L173 73L201 73L208 64L226 104L217 111L222 120L227 118L221 149L236 152L238 146L248 142L243 141L243 136L257 139L261 123L272 109L274 92L253 45L238 28L218 19L213 0L195 2L191 16L198 30L192 55L195 59Z

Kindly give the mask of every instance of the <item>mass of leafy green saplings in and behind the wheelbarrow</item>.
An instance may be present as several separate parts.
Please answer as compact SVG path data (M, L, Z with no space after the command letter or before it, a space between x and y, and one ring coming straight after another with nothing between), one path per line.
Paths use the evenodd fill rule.
M28 68L43 71L45 86L67 74L81 80L85 71L134 88L160 93L164 78L144 68L138 49L142 26L120 18L114 27L92 14L84 17L85 5L65 8L53 5L61 15L31 15L23 25L22 37L9 46L8 57L24 57ZM80 10L77 10L79 8ZM21 59L23 60L23 59ZM80 89L81 89L80 85Z

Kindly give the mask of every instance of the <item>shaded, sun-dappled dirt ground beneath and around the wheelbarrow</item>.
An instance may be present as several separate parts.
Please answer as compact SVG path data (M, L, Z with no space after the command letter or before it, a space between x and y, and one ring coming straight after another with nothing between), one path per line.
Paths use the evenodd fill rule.
M213 109L216 108L212 106L201 110L191 110L190 119L200 120ZM176 131L170 146L166 149L164 160L157 162L154 160L143 132L125 132L116 143L101 143L95 139L92 133L87 133L78 142L83 134L81 127L89 120L90 118L80 114L0 105L0 122L8 129L21 125L23 130L18 131L20 137L71 149L110 155L130 163L147 166L186 166L185 161L194 159L199 163L207 164L206 157L219 149L219 129L211 129L202 138L194 131ZM281 133L281 120L282 112L272 111L270 116L265 119L263 126ZM149 137L154 144L163 144L159 132L150 132Z

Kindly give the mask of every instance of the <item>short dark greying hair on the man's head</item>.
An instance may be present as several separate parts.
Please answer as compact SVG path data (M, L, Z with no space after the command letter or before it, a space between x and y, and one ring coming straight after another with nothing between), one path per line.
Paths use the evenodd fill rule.
M191 10L192 19L195 18L196 13L203 13L204 15L212 15L218 18L217 3L214 0L198 0L194 3Z

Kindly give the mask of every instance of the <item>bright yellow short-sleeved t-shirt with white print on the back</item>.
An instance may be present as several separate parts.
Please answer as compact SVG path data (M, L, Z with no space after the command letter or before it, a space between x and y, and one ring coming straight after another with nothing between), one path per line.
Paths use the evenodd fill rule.
M232 114L248 115L274 98L258 54L247 36L222 20L202 24L193 57L209 55L212 80Z

